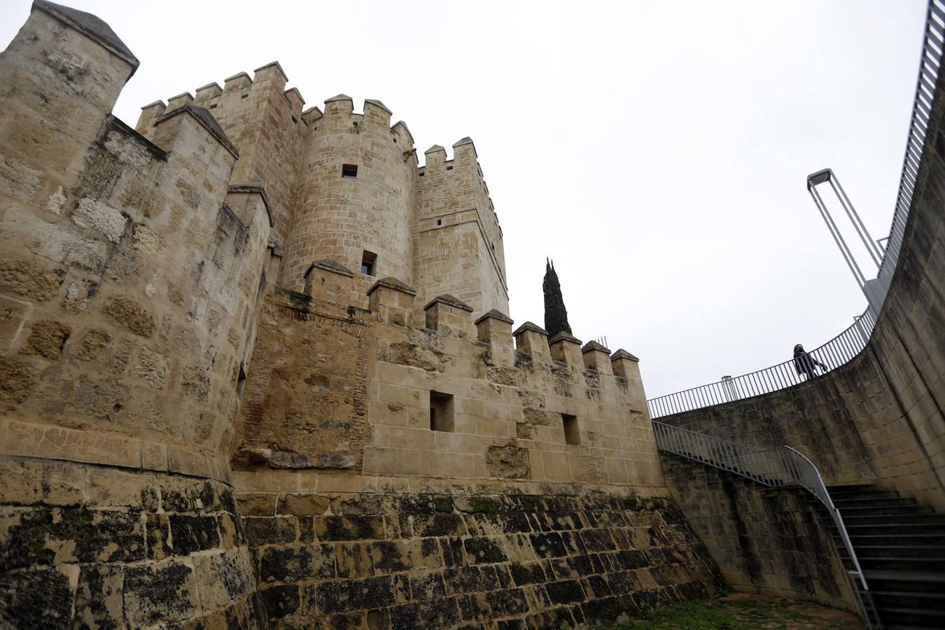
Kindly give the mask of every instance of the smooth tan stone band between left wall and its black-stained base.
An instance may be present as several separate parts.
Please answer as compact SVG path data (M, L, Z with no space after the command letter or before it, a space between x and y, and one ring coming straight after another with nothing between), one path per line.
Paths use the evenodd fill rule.
M230 465L179 446L95 430L0 418L0 454L173 472L230 483Z

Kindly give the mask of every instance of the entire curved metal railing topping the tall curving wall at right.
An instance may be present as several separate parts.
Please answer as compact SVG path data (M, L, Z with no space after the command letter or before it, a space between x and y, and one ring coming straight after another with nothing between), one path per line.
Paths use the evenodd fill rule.
M932 114L932 102L936 94L936 81L943 52L945 52L945 0L930 0L925 20L925 37L919 63L916 98L905 145L899 193L896 198L896 210L893 213L889 236L885 239L883 260L877 274L886 287L892 281L902 250L902 237L905 234L905 224L912 208L912 197L916 189L922 151L925 148L925 137ZM761 396L803 383L809 378L816 378L819 374L846 364L866 348L869 336L876 326L878 315L878 312L867 309L867 312L858 317L846 331L836 335L823 346L808 352L816 364L826 366L816 368L811 376L806 373L806 370L798 369L799 366L791 359L750 374L735 378L723 377L716 383L700 385L675 394L647 400L646 406L650 417L664 417L733 400Z

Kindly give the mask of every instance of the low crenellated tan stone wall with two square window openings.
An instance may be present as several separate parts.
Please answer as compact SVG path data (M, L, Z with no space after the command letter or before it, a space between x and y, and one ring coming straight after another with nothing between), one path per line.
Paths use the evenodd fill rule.
M310 272L305 294L276 300L285 315L274 315L271 325L293 338L302 330L318 336L340 321L363 330L358 337L368 340L364 351L376 362L366 373L371 433L337 435L335 453L363 462L364 474L662 484L637 361L626 350L611 354L593 341L582 348L569 334L549 340L531 322L513 331L499 311L473 318L472 307L450 295L424 303L394 278L369 288L367 309L346 306L360 288L355 274L332 261ZM260 360L271 359L264 351ZM297 377L285 369L280 374L269 377L280 383L273 386L291 388L283 379ZM345 383L353 376L334 386L351 391ZM444 424L431 427L429 410L439 404ZM253 420L254 426L266 422ZM266 431L244 435L240 449L259 448L256 440ZM291 433L281 435L299 443ZM330 449L332 439L312 444ZM496 463L497 449L516 462L513 469Z

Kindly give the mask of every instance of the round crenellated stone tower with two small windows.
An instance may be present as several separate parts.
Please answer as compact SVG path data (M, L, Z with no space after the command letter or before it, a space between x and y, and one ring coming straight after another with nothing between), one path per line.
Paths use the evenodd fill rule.
M355 273L412 281L411 212L417 158L403 123L367 100L354 113L338 94L325 112L307 112L308 136L283 284L301 290L314 261L334 259Z

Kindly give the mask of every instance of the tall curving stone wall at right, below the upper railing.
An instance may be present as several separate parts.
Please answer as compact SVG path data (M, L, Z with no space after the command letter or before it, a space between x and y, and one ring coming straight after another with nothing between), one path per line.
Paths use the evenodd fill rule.
M829 484L875 482L945 510L945 128L939 77L889 294L867 348L814 381L662 421L787 444Z

